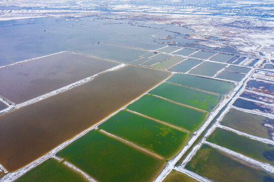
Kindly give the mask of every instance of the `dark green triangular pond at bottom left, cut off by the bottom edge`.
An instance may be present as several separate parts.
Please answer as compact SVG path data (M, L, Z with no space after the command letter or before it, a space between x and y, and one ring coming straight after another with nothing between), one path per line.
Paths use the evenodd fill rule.
M62 162L55 159L48 159L37 167L31 169L22 177L18 178L16 182L27 181L79 181L88 182L81 173L74 171Z

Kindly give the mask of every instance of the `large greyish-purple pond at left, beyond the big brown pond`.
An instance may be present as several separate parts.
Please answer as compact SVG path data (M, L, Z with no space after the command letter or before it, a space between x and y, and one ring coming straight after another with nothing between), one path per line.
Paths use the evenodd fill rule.
M117 65L68 52L30 60L0 68L0 95L22 103Z

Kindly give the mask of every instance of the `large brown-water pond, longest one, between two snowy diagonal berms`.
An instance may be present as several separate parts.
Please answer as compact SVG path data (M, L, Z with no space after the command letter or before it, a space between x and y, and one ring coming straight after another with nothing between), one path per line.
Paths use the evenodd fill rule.
M126 66L0 116L0 163L8 171L23 167L168 76L167 71Z

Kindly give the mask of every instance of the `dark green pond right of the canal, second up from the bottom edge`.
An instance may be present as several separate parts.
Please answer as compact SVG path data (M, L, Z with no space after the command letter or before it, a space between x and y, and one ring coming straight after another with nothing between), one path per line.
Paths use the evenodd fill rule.
M229 140L227 140L229 139ZM216 128L208 137L208 142L241 153L264 163L274 164L274 146L255 141L237 133Z

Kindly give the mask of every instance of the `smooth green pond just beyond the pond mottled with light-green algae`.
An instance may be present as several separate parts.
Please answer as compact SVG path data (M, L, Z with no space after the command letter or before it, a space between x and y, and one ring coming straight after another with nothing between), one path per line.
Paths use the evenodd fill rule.
M207 112L200 112L151 95L143 96L128 109L189 131L196 130L207 117Z

